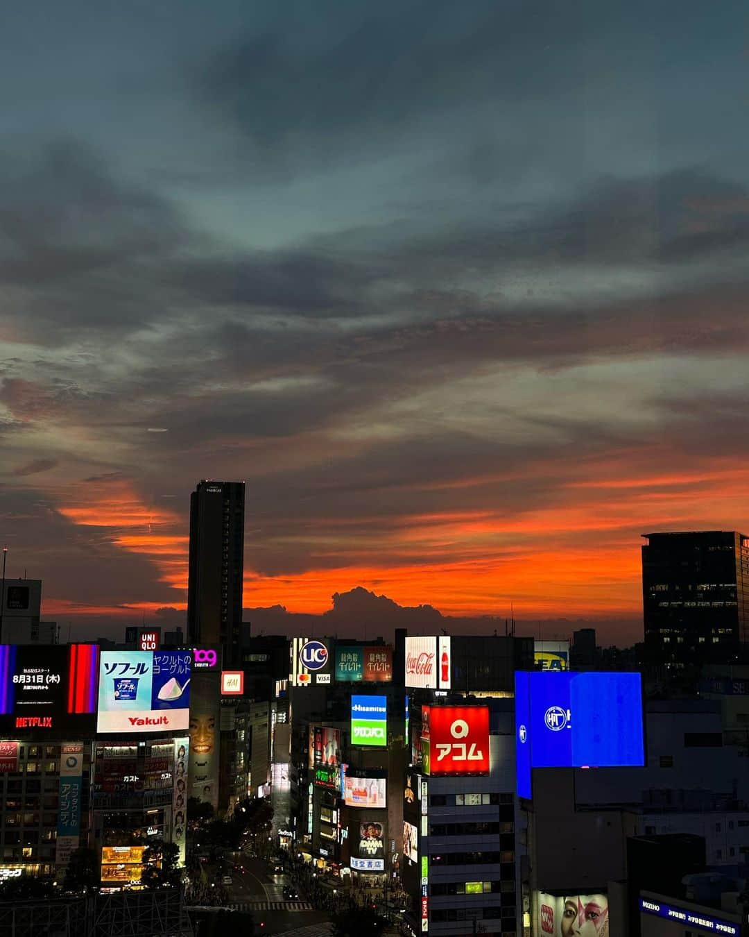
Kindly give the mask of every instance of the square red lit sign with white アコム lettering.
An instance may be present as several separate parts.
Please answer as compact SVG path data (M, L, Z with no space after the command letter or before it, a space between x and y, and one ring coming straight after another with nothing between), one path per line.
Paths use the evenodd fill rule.
M432 706L430 765L438 774L489 774L489 706Z

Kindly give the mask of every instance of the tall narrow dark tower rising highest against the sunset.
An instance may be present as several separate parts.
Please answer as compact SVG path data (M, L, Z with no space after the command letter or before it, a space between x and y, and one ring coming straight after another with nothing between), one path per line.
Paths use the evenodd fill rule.
M239 659L244 575L244 483L198 482L190 496L187 630L195 644Z

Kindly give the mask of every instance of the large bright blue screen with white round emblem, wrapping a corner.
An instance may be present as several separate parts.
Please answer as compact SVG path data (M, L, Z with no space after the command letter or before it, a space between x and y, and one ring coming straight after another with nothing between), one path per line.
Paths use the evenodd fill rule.
M521 797L532 767L641 767L639 674L516 673L515 739Z

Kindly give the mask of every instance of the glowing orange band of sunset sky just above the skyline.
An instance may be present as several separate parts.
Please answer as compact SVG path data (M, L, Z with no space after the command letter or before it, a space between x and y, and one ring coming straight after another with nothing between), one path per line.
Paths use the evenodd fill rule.
M554 501L508 512L446 503L444 511L400 516L299 518L289 537L256 545L276 553L284 538L305 550L309 568L295 573L247 569L244 606L283 605L319 614L334 592L364 587L400 605L430 604L453 616L637 616L641 611L639 534L655 529L737 527L749 492L749 468L706 462L668 474L647 467L632 476L612 460L582 464L574 480L555 479ZM533 473L536 469L531 469ZM583 476L590 474L590 479ZM609 475L608 478L601 477ZM492 476L495 483L499 476ZM507 481L507 476L504 477ZM488 483L469 478L463 487ZM456 482L453 487L459 487ZM550 483L551 489L551 483ZM48 615L154 614L184 610L188 537L184 518L146 504L125 482L108 480L67 498L59 512L98 528L118 549L154 567L161 602L86 604L46 599ZM272 566L278 564L274 554ZM270 564L269 564L270 565Z

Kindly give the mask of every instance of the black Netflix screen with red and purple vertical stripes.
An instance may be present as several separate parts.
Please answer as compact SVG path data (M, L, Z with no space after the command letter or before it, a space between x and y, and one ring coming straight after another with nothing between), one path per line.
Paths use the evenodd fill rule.
M0 645L0 731L93 735L95 645Z

